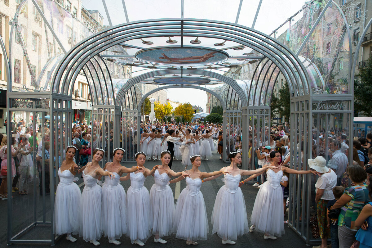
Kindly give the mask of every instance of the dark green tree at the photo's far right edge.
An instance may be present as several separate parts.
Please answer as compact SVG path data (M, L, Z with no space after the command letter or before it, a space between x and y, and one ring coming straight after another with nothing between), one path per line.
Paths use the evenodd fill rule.
M366 66L359 69L355 74L354 80L354 112L372 116L372 57L370 57Z

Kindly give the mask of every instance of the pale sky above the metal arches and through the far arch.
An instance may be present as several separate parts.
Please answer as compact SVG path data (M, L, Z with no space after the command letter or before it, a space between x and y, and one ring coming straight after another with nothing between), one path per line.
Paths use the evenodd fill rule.
M252 27L260 0L243 0L238 24ZM87 9L99 10L108 25L108 18L102 0L82 0ZM181 0L124 0L129 22L158 18L180 18ZM290 16L294 15L306 0L263 0L257 16L255 29L270 34ZM105 0L112 25L125 23L121 0ZM240 0L184 0L184 18L212 19L235 22ZM296 19L300 15L296 16ZM283 26L278 33L285 31ZM167 89L167 98L172 101L190 102L200 105L205 111L206 92L197 89Z

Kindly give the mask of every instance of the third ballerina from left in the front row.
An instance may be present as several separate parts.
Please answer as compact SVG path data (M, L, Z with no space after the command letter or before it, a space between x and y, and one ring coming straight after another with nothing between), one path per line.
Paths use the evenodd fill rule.
M102 149L101 149L102 150ZM109 243L120 245L117 241L126 229L126 195L124 187L120 184L120 177L124 173L141 171L138 166L126 168L121 166L125 150L117 147L113 149L113 162L106 163L103 168L105 171L113 172L115 178L105 177L105 183L102 185L102 214L101 230L109 238ZM100 179L100 178L99 178Z

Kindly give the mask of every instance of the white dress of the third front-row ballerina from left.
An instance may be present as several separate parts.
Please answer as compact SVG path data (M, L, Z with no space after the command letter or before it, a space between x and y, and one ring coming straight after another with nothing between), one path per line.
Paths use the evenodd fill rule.
M120 175L113 174L115 178L106 176L102 185L101 231L109 239L119 239L126 233L126 195Z

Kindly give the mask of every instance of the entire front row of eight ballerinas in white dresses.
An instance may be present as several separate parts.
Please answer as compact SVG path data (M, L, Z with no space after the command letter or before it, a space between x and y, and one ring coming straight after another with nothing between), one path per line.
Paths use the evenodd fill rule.
M204 198L200 192L202 182L222 174L225 185L218 191L212 211L212 234L217 233L222 244L235 244L237 236L253 230L264 232L264 239L276 239L273 235L284 233L283 195L280 189L282 172L317 174L279 166L280 154L276 151L270 153L273 159L271 165L253 171L239 169L237 164L241 163L241 154L231 152L231 164L214 172L199 170L201 155L189 157L191 169L174 172L168 166L171 160L168 150L161 152L161 165L151 170L144 166L147 155L143 152L135 155L137 166L126 168L120 164L125 152L122 148L113 150L113 162L106 163L103 169L99 166L104 155L103 149L94 150L92 162L79 169L73 162L75 152L74 146L67 147L66 160L58 170L60 183L55 196L54 232L57 235L67 234L66 238L71 242L76 241L72 234L79 233L84 241L93 245L100 245L97 240L102 234L116 245L121 244L117 239L122 235L129 236L132 244L140 246L151 235L154 235L154 242L166 244L163 237L171 233L176 234L176 238L186 240L187 245L197 245L197 240L206 240L209 231ZM268 172L267 182L257 194L252 226L248 228L244 196L239 186L264 171ZM76 172L83 173L85 187L82 194L73 182ZM128 174L122 177L124 173ZM149 175L155 178L150 193L144 187L144 181ZM250 178L240 181L244 175L250 175ZM105 177L105 183L100 187L97 182L102 176ZM171 177L177 178L170 180ZM184 178L187 187L182 190L174 205L173 192L168 184ZM128 179L131 179L131 186L125 194L119 182Z

